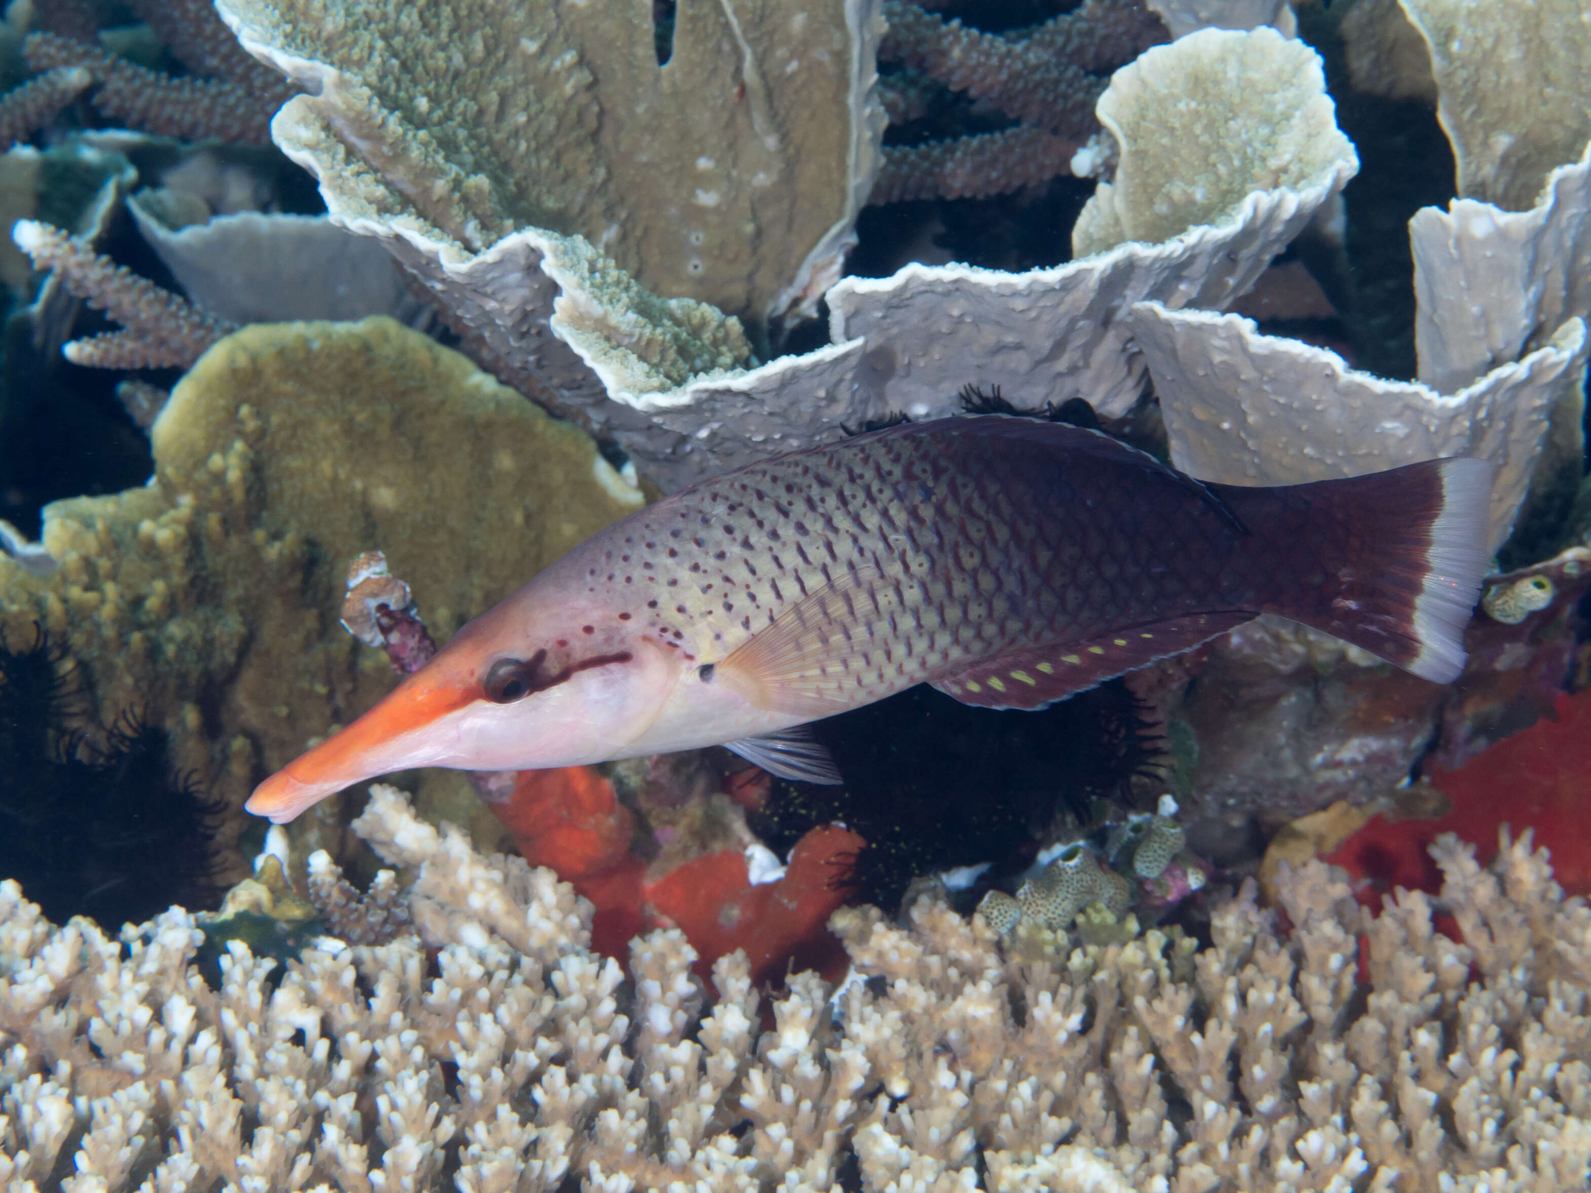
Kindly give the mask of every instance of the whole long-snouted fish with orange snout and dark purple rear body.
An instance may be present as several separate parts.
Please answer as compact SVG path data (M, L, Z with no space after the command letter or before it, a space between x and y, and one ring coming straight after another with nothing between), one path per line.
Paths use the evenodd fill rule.
M412 767L714 744L835 783L800 725L913 684L1042 708L1262 612L1448 682L1488 562L1491 479L1454 458L1203 484L1098 431L1002 415L792 452L587 539L248 810L290 821Z

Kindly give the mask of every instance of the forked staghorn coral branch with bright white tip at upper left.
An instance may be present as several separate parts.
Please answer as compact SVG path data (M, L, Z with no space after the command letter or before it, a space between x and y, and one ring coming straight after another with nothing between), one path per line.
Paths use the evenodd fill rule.
M231 320L196 310L169 290L80 245L59 227L18 220L11 237L33 259L35 269L56 270L72 294L124 324L123 331L67 344L62 353L73 364L186 369L212 344L237 331Z

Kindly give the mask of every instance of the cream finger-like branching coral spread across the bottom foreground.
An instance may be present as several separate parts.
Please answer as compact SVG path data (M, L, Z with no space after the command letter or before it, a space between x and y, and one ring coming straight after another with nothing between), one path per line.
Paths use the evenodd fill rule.
M796 975L764 1020L740 954L713 999L678 932L636 938L625 972L568 886L391 789L360 830L415 867L423 943L323 938L278 973L231 942L215 989L181 910L110 940L0 884L0 1183L1586 1185L1591 910L1529 838L1491 870L1435 848L1464 943L1419 894L1362 913L1319 862L1282 875L1290 934L1251 886L1203 950L1149 932L1064 964L923 900L904 926L840 913L853 980Z

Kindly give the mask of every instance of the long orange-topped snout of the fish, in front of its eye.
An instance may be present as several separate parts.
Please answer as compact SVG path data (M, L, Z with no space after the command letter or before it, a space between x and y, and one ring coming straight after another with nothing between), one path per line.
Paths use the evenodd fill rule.
M255 816L286 824L355 783L444 764L452 754L452 741L441 722L468 705L474 694L463 684L439 682L441 676L428 670L409 676L352 725L261 783L243 806Z

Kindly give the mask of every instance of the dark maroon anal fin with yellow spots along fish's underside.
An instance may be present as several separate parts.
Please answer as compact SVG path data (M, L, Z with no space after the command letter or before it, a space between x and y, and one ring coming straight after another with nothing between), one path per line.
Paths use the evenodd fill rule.
M980 708L1044 708L1136 671L1157 659L1192 651L1252 612L1204 612L1114 630L1101 638L1009 651L934 682L945 695Z

